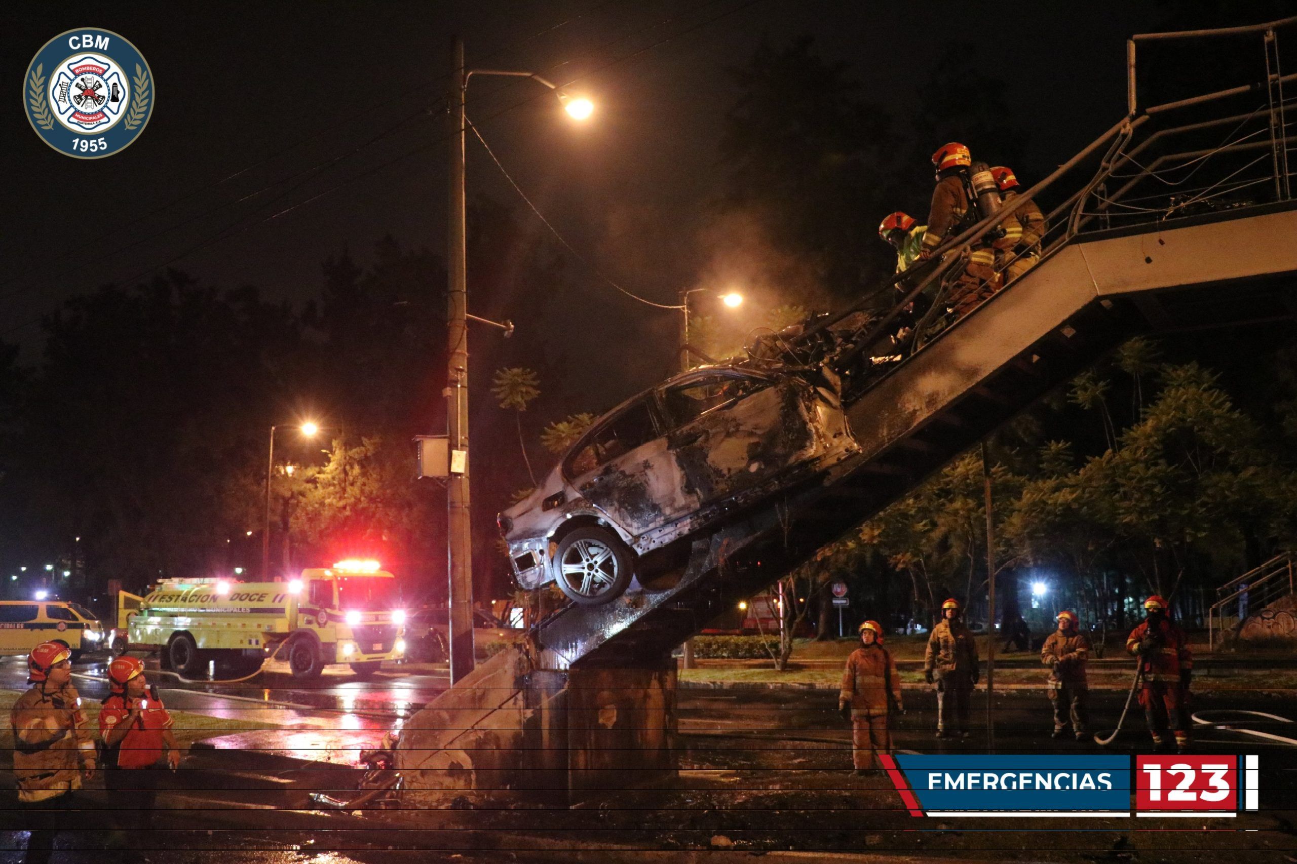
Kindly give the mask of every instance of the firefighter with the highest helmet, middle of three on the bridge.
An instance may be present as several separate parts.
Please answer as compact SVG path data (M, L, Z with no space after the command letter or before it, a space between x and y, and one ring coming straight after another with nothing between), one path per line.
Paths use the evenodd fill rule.
M933 165L936 167L936 188L933 189L927 230L918 253L922 259L930 258L938 246L978 219L969 187L969 167L973 165L969 148L958 141L943 144L933 153ZM988 241L979 240L971 246L969 262L955 282L948 302L956 315L962 315L994 294L995 289L995 249Z

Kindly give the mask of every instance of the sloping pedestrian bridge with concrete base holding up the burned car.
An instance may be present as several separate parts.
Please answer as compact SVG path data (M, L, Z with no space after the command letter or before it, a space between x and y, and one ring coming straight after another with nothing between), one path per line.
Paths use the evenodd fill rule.
M601 785L624 789L634 772L669 772L671 651L721 611L1130 336L1297 317L1284 80L1132 105L1049 178L947 241L933 262L835 315L890 307L829 361L842 376L860 454L695 538L687 566L669 579L541 620L515 650L407 721L398 750L407 789L429 806L499 789L565 789L580 798ZM1191 115L1165 122L1180 112ZM1026 200L1057 202L1040 263L939 331L920 322L901 362L868 362L895 353L885 345L912 298L935 293L942 307L969 249ZM895 300L898 287L899 304L881 302Z

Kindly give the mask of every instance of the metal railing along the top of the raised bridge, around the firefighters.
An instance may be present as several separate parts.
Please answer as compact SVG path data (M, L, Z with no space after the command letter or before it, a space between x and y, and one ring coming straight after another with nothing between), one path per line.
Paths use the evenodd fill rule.
M827 358L844 378L846 398L859 398L958 323L946 301L971 249L987 245L988 235L1029 201L1048 200L1069 184L1070 193L1045 211L1048 227L1039 249L1029 250L1040 261L1088 232L1292 201L1297 191L1297 74L1281 74L1281 30L1297 30L1297 17L1217 31L1134 36L1131 44L1258 34L1266 78L1141 109L1134 100L1132 48L1126 117L996 214L947 240L929 261L888 278L859 302L790 340L789 353L796 355L799 345L852 313L877 313L882 306L860 336ZM1006 250L996 256L996 289L1006 287L1017 254ZM913 320L912 310L921 298L929 301L929 310Z

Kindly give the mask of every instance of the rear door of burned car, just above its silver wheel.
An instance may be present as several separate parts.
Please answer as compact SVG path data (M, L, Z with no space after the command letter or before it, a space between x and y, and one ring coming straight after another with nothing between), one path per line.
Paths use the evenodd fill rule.
M632 537L698 509L659 432L651 394L586 433L564 461L563 476Z

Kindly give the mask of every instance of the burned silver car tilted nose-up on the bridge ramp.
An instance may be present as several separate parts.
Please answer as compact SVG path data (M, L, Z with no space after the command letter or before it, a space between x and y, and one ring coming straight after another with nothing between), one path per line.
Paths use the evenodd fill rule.
M700 367L599 418L499 527L523 588L554 581L576 603L607 603L650 553L857 449L827 379Z

